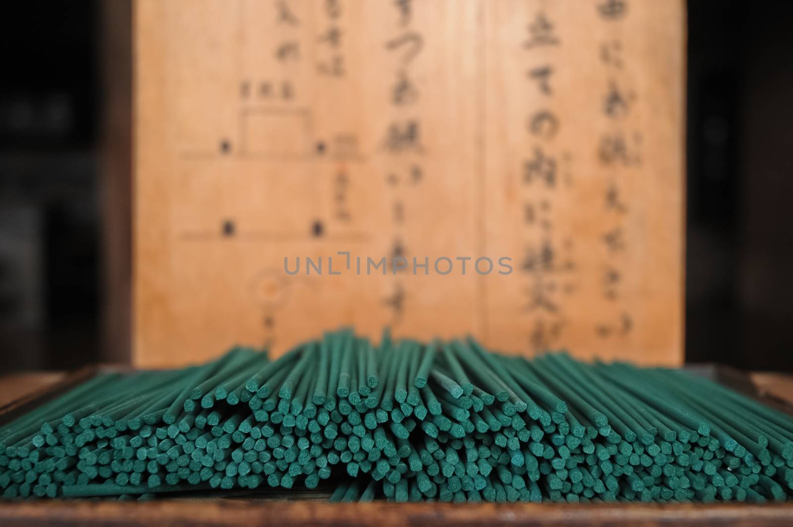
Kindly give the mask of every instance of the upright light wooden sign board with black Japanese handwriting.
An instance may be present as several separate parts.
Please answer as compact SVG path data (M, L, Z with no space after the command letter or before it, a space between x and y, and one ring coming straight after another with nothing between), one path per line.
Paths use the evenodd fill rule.
M340 325L682 361L683 2L133 11L134 364Z

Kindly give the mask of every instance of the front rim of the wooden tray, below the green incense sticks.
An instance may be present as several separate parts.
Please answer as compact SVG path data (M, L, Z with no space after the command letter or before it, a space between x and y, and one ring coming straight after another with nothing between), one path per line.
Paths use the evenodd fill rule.
M11 525L790 525L788 505L542 505L165 500L0 502Z

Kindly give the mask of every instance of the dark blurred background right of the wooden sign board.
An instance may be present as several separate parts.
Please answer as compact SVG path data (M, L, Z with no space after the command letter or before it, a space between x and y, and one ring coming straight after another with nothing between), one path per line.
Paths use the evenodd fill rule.
M688 4L686 357L793 370L793 6Z

